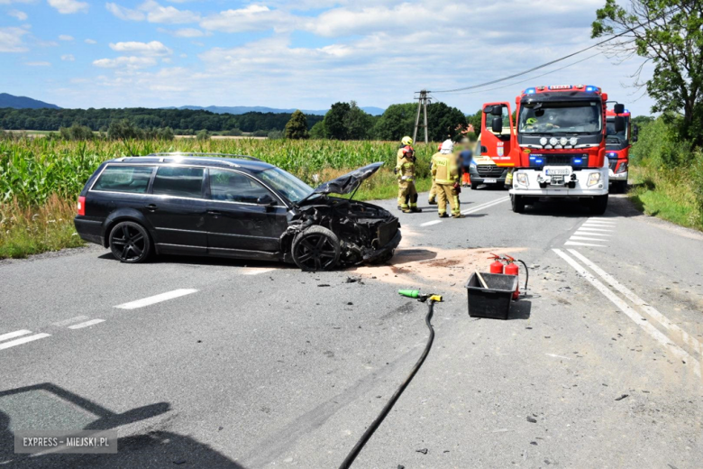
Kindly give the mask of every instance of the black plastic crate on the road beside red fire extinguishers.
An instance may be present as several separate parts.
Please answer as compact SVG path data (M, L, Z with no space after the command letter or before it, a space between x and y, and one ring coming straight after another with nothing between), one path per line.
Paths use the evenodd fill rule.
M513 293L517 290L517 276L484 272L481 272L481 276L488 289L483 288L476 272L471 274L466 283L469 316L507 319Z

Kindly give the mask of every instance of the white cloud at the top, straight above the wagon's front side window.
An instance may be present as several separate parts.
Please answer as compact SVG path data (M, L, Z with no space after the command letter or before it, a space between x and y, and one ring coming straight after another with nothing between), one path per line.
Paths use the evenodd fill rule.
M283 10L271 10L264 5L249 5L238 10L225 10L218 14L211 14L200 22L200 26L206 30L223 32L270 29L284 32L292 28L295 20L295 16Z

